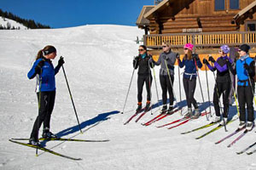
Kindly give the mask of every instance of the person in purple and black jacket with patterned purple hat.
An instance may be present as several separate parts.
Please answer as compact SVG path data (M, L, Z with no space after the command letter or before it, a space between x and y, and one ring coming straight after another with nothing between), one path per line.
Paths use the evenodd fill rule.
M227 65L227 62L230 62L230 64L233 63L233 61L230 59L230 57L227 56L229 54L230 48L227 45L223 45L219 48L218 53L220 54L220 57L215 61L212 56L209 57L209 61L212 62L213 65L210 65L207 59L203 59L203 63L207 64L208 68L211 71L217 71L217 77L216 77L216 83L214 87L213 92L213 105L215 110L215 120L212 122L220 122L222 120L220 116L220 107L219 107L219 98L222 95L223 97L223 105L224 105L224 113L223 118L224 122L227 122L228 120L228 114L229 114L229 94L230 94L230 71L229 71L229 65ZM223 124L224 122L221 122Z

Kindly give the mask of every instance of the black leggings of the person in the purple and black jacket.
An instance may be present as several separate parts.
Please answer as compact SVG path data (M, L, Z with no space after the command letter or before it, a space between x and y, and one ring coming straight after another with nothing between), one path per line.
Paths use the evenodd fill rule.
M229 114L229 96L230 96L230 82L217 82L213 93L213 105L216 116L220 116L219 98L222 94L224 105L224 117L228 117Z

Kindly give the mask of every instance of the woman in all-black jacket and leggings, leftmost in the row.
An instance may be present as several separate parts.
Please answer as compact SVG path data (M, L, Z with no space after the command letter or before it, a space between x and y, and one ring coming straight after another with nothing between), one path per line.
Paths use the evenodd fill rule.
M142 102L143 102L143 85L146 83L147 88L147 103L145 111L150 109L150 100L151 100L151 82L152 75L150 71L150 67L153 68L153 59L151 55L147 53L147 47L144 45L139 46L139 55L133 59L133 67L135 69L138 68L137 71L137 112L142 110Z

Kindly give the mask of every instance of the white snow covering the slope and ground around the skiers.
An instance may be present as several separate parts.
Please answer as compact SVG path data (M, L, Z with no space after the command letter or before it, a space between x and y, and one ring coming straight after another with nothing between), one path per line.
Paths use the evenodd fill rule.
M175 113L151 126L143 127L141 123L158 114L158 108L154 108L154 116L149 112L139 122L134 122L134 119L124 126L123 123L137 106L135 71L125 113L119 113L123 110L131 80L132 59L137 55L138 44L134 42L137 36L143 36L143 31L137 27L106 25L0 31L0 169L256 169L254 154L236 155L236 151L255 142L254 130L231 148L226 146L238 135L221 144L214 144L233 132L238 121L227 126L228 133L221 128L198 140L195 138L212 127L195 133L180 133L207 124L205 116L172 130L156 128L182 117ZM34 93L36 82L28 80L26 74L38 50L48 44L57 48L57 58L61 55L65 58L64 67L83 130L83 133L79 133L67 84L60 71L56 75L57 93L51 119L52 132L63 138L110 139L106 143L43 143L49 149L67 156L80 157L82 161L70 161L43 151L35 156L34 149L9 142L10 138L28 138L31 133L38 105ZM55 65L57 60L54 60ZM154 68L161 99L159 69ZM202 103L199 83L195 99L201 103L203 111L206 108L208 110L207 86L205 71L199 73L205 103ZM179 101L177 76L176 68L174 87ZM208 78L212 99L214 79L211 72L208 72ZM154 84L152 94L152 102L155 104L157 97ZM144 89L143 105L145 97ZM182 99L178 105L186 105L183 87ZM230 108L230 115L236 115L235 103Z

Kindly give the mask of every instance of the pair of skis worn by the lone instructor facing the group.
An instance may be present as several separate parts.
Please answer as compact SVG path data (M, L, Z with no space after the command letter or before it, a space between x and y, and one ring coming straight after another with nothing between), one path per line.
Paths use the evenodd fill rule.
M60 154L58 152L55 152L54 150L49 150L45 147L41 147L41 146L37 146L37 145L33 145L33 144L26 144L26 143L20 142L19 140L29 140L29 139L9 139L9 141L12 142L12 143L21 144L21 145L24 145L24 146L27 146L27 147L38 149L38 150L43 150L43 151L48 152L50 154L53 154L55 156L61 156L61 157L64 157L64 158L67 158L67 159L70 159L70 160L73 160L73 161L82 160L82 158L75 158L75 157L72 157L72 156L66 156L66 155ZM41 138L39 140L43 140L43 141L44 140L76 141L76 142L108 142L109 141L109 140L62 139L62 138L57 138L57 139L42 139Z

